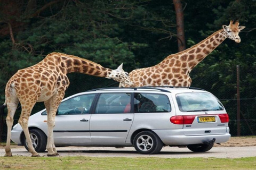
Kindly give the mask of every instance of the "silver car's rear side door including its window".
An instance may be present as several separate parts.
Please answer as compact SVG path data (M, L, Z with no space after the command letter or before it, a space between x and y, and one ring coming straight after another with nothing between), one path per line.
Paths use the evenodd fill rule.
M131 93L100 94L90 120L91 142L125 143L133 118Z

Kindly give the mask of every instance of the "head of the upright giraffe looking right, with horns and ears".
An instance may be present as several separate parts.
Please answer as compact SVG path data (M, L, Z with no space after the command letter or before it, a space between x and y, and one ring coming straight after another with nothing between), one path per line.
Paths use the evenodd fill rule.
M233 20L230 21L229 25L222 25L224 31L227 33L227 37L231 40L234 40L236 43L240 43L241 39L238 36L239 32L244 29L244 26L238 26L239 22L236 21L235 24L233 24Z

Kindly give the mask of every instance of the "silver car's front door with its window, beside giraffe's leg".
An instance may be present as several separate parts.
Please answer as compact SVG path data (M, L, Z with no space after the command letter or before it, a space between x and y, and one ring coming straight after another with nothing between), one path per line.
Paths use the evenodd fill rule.
M63 101L55 116L54 142L82 145L91 141L90 108L95 94L71 97Z

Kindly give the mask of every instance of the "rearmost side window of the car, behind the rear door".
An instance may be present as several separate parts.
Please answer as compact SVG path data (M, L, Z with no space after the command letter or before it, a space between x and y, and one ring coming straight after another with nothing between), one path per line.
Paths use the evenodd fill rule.
M170 100L163 94L135 93L135 113L171 112Z

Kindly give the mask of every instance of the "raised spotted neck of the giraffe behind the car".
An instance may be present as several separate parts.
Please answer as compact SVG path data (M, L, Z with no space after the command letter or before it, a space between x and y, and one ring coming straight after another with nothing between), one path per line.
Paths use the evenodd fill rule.
M184 72L190 73L198 63L218 47L226 38L227 35L223 29L216 31L193 47L166 57L158 66L163 67L166 63L170 63L169 66L179 67L184 69Z

